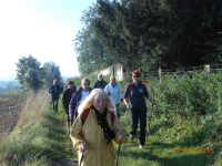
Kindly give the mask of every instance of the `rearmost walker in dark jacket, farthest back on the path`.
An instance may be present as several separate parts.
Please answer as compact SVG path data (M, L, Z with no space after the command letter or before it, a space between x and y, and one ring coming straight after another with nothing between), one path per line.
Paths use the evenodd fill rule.
M48 89L51 94L51 102L53 107L53 113L58 112L59 95L62 93L63 89L58 84L58 80L53 80L53 84Z

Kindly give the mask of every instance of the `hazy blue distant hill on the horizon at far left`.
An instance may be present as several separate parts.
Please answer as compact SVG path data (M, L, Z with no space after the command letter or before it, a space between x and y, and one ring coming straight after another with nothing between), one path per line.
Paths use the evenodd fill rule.
M0 92L20 90L20 84L18 81L0 81Z

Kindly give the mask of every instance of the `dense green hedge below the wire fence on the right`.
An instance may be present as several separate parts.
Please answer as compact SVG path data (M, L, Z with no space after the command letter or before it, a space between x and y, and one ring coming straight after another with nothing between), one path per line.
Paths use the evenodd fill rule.
M153 116L190 120L202 127L204 139L220 137L222 131L222 73L193 73L165 76L162 83L151 82L160 106Z

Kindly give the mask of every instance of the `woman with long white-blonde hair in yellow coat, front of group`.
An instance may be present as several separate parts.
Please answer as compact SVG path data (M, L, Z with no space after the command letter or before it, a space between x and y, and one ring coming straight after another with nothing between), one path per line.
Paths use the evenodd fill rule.
M109 95L101 89L94 89L79 106L70 134L79 165L115 165L113 141L122 143L125 134L113 108Z

